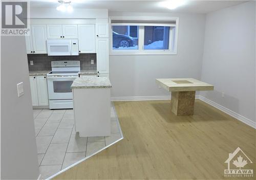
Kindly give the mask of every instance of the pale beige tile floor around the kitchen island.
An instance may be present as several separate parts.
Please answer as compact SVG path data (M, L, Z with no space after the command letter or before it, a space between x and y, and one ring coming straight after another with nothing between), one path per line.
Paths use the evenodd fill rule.
M122 138L113 104L111 136L80 138L74 128L73 109L33 109L37 156L41 178L62 169Z

